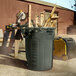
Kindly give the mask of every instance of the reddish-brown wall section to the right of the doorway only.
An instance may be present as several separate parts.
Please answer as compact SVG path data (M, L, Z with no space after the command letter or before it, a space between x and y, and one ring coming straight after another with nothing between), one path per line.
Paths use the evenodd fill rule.
M58 33L67 34L67 28L73 25L74 12L68 10L59 10Z

